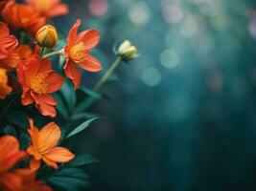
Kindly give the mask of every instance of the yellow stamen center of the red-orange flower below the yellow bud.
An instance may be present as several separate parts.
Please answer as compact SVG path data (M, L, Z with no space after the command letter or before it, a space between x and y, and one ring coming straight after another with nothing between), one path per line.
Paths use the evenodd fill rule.
M39 73L35 75L31 81L31 89L39 95L46 93L48 85L45 82L45 76L43 74Z

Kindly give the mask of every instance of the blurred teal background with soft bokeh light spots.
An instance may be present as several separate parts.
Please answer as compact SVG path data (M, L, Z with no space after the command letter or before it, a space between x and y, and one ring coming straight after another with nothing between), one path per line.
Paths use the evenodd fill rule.
M54 20L97 28L104 67L130 39L139 59L122 64L102 120L73 150L91 191L256 190L256 2L253 0L70 0ZM101 74L86 74L92 87Z

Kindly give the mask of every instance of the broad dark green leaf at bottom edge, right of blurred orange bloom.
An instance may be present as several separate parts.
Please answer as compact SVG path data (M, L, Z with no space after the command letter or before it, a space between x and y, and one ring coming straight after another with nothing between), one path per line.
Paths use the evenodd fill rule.
M55 190L76 191L89 186L88 176L79 168L63 168L45 179Z

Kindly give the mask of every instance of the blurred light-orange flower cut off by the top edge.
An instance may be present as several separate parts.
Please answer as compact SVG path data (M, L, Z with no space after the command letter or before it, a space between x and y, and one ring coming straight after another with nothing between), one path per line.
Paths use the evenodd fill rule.
M68 6L61 4L60 0L26 0L26 2L48 18L68 13Z

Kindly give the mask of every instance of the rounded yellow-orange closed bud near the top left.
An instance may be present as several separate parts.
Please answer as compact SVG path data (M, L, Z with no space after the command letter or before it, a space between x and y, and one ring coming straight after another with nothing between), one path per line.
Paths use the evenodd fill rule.
M35 39L40 47L52 48L58 41L58 33L54 26L45 25L36 32Z

